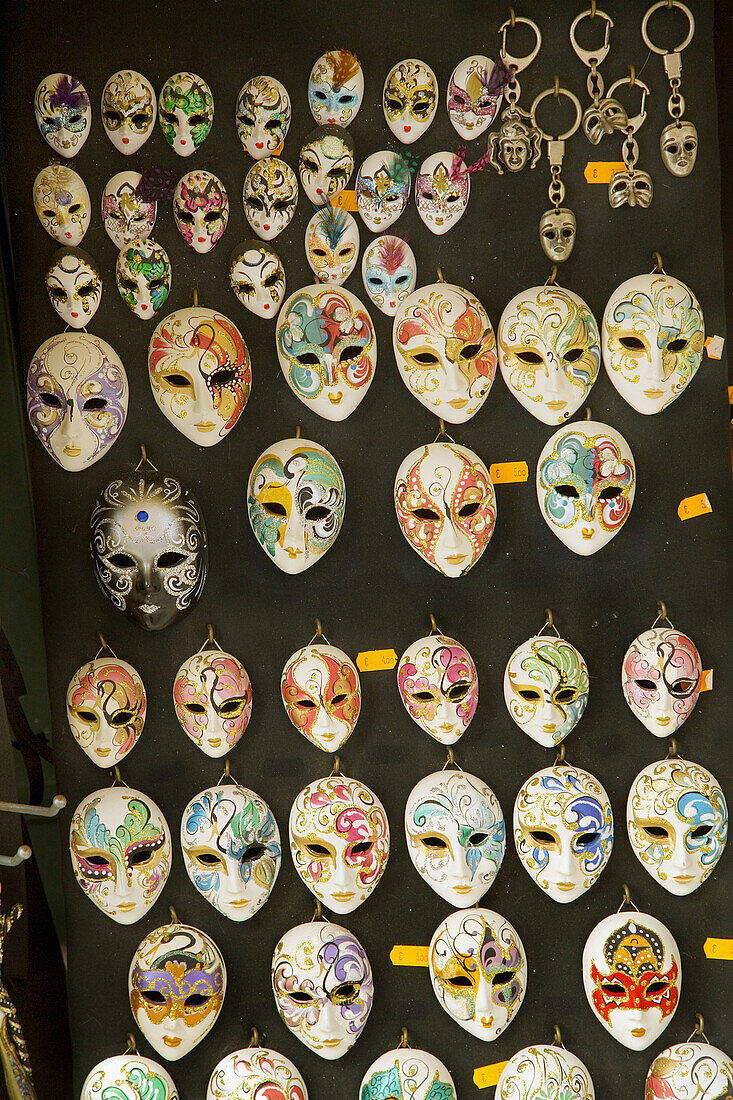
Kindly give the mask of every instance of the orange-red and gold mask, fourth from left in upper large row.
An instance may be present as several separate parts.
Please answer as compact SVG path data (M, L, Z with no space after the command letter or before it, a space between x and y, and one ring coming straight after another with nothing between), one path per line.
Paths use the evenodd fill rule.
M496 340L469 290L452 283L418 287L397 309L392 346L413 397L449 424L470 420L489 396Z

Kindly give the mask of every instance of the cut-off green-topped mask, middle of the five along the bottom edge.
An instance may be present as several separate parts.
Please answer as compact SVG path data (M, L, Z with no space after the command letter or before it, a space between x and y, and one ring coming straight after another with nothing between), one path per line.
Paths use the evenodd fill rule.
M409 1046L386 1050L371 1064L359 1088L359 1100L456 1100L447 1066L428 1050Z

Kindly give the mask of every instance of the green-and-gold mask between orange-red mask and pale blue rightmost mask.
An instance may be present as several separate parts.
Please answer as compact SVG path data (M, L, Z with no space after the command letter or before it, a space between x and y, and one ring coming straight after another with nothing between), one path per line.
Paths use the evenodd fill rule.
M512 298L496 332L499 365L519 405L543 424L564 424L598 377L601 343L582 298L533 286Z

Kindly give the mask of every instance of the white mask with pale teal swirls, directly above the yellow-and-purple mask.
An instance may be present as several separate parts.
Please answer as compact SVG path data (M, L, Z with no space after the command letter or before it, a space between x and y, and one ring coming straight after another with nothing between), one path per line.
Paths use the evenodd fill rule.
M499 873L506 828L499 799L464 771L436 771L405 806L407 851L419 877L457 909L475 905Z

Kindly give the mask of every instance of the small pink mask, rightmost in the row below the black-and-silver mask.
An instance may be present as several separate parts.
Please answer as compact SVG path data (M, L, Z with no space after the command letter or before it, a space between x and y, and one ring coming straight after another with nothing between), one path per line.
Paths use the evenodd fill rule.
M669 737L694 710L702 685L702 661L691 638L657 626L634 638L621 667L630 710L655 737Z

